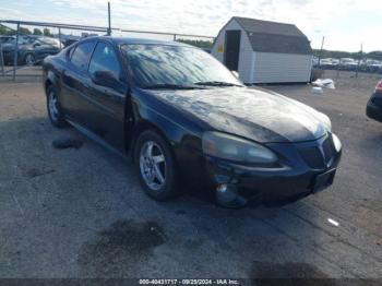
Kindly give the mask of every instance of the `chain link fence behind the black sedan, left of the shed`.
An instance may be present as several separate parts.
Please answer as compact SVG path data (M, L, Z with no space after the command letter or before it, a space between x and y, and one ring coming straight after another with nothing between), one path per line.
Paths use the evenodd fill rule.
M0 79L41 78L41 61L71 44L104 36L108 27L0 20ZM112 36L177 40L211 51L214 37L111 28Z

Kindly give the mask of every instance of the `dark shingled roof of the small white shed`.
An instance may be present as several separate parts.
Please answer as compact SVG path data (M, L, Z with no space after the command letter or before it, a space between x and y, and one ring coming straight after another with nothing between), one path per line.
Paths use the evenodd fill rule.
M246 31L254 51L312 55L306 35L293 24L232 17Z

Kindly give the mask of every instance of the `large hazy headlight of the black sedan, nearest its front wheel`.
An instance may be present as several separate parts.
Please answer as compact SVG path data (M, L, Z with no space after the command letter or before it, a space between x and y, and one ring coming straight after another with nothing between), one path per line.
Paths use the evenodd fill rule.
M277 156L258 143L219 132L203 133L204 154L241 163L275 163Z

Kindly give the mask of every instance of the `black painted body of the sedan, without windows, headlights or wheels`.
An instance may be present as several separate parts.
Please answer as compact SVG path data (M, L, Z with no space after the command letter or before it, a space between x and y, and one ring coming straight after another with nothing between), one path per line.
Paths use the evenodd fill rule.
M131 80L118 45L181 44L109 37L85 40L103 40L112 46L120 57L126 76L121 76L118 86L114 88L95 84L86 72L75 71L71 65L68 58L71 47L57 56L46 58L45 86L55 85L68 120L75 126L80 123L95 134L96 139L106 141L126 155L133 150L134 140L142 130L156 130L172 146L182 181L189 189L205 190L207 187L212 190L218 183L231 183L247 198L261 196L266 201L277 201L311 193L318 175L336 169L341 152L334 150L331 132L325 128L324 121L327 117L314 109L277 94L266 94L248 87L142 90ZM239 95L238 98L236 94ZM219 95L223 95L222 98L230 98L229 103L220 100ZM272 103L258 110L255 105L252 106L252 115L250 110L243 114L240 110L236 114L229 111L240 106L243 98L252 103L256 100L256 96L263 99L270 97ZM289 108L288 114L284 108ZM279 121L275 111L283 114ZM302 118L290 120L293 116L301 115ZM306 121L309 120L307 126ZM255 166L206 156L202 152L201 138L204 131L212 130L262 142L280 159L274 166ZM319 150L323 139L331 142L331 160L312 168L307 165L298 150L305 144Z

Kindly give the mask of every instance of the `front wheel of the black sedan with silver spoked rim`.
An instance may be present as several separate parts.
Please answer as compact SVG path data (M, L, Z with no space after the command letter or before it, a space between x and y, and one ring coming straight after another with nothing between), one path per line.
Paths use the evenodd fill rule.
M169 144L157 132L145 130L140 134L134 148L134 164L141 187L148 196L167 201L178 194L176 162Z

